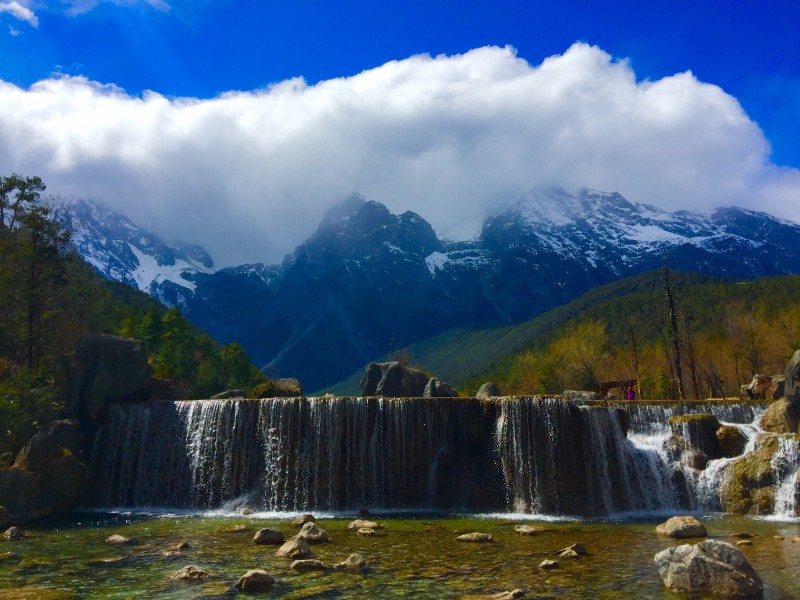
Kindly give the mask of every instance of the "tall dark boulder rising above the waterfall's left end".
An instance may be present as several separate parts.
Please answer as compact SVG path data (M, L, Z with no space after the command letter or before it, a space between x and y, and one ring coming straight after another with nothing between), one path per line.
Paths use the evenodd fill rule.
M150 397L147 349L116 335L87 335L60 365L58 384L69 414L96 425L108 402Z

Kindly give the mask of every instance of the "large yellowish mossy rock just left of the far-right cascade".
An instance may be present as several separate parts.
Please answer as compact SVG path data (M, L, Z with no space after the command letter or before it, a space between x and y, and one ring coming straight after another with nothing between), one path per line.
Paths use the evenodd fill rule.
M762 435L756 449L728 467L719 496L727 512L769 514L775 504L775 473L772 458L778 450L780 436Z

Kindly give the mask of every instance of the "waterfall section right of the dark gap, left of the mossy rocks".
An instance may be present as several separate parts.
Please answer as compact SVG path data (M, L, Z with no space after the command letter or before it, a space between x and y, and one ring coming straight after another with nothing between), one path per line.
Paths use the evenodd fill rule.
M497 440L513 510L605 516L678 506L664 459L626 438L619 411L557 398L509 398L501 409Z

